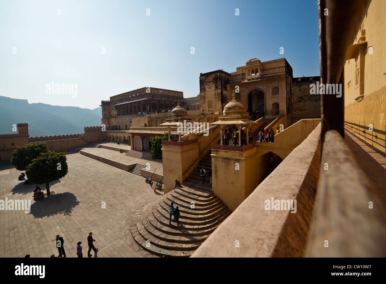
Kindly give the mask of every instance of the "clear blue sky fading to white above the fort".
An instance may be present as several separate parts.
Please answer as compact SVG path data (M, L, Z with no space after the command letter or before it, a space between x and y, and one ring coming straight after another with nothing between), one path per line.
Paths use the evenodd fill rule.
M195 97L201 72L251 58L319 76L318 44L316 0L0 1L0 95L88 109L146 86Z

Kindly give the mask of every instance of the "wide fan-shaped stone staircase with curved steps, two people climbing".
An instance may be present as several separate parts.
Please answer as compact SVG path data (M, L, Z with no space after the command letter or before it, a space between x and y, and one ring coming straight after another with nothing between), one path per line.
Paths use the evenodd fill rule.
M210 153L179 188L168 192L127 219L125 236L130 246L144 257L189 257L227 218L231 211L212 191L209 177L202 184L200 169L212 168ZM178 206L180 226L172 216L169 204Z

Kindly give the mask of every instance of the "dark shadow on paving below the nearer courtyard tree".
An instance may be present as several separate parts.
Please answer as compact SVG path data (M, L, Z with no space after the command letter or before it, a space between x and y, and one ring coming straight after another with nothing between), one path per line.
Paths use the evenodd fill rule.
M49 217L56 214L71 216L74 207L80 204L80 201L71 192L52 194L32 202L30 214L34 218Z

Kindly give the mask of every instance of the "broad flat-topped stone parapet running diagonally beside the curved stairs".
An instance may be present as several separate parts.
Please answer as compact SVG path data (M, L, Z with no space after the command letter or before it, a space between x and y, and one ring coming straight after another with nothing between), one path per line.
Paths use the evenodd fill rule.
M320 171L320 129L319 124L218 226L192 257L303 256ZM267 210L267 201L272 199L279 202L295 199L296 213ZM269 206L272 208L273 204ZM236 240L239 247L235 246Z

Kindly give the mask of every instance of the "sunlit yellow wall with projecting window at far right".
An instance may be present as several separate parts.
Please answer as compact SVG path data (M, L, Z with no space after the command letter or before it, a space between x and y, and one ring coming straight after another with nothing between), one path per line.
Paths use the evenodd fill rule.
M356 51L356 58L344 65L344 120L345 129L367 143L386 152L386 1L367 1L362 9L361 19L353 31L351 44L357 44L360 37L367 44ZM371 50L372 48L372 50ZM372 54L371 54L372 53ZM359 69L359 82L356 80ZM360 95L363 95L361 100ZM357 98L357 100L355 100ZM372 124L373 131L369 128ZM362 131L365 131L363 133ZM377 137L376 137L377 136Z

